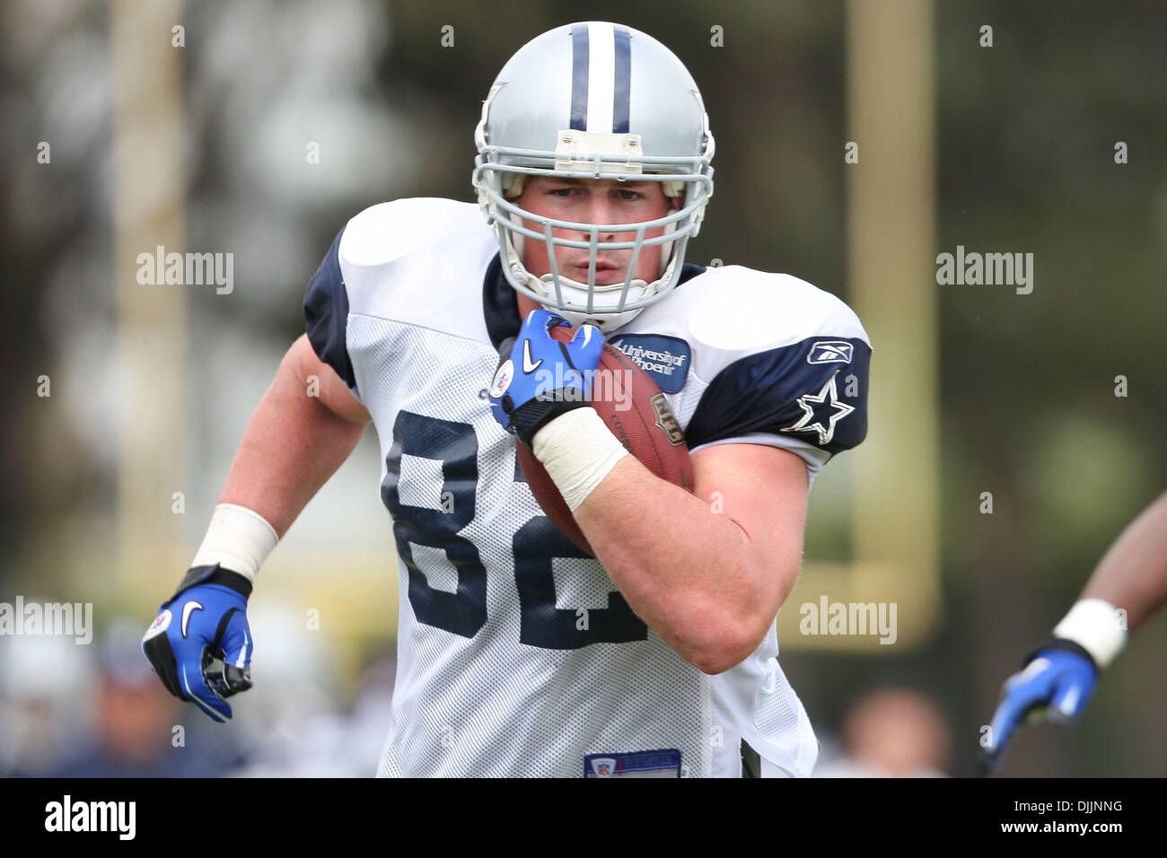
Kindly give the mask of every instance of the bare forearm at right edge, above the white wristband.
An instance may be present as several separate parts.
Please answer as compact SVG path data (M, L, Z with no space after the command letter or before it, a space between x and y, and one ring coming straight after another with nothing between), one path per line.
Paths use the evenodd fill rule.
M1167 494L1111 545L1082 598L1104 599L1125 611L1128 630L1167 601Z

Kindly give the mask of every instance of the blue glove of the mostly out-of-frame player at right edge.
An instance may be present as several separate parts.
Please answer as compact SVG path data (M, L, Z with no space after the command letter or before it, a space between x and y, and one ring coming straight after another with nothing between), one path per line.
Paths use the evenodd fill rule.
M1055 637L1032 654L1022 670L1006 679L1001 689L1001 702L990 725L990 741L983 748L983 774L997 768L1019 726L1041 720L1069 726L1076 721L1097 682L1093 658L1072 641Z

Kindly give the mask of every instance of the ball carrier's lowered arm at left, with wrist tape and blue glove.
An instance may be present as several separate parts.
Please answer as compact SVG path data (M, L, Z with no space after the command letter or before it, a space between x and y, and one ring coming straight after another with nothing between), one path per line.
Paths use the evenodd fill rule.
M260 564L369 420L308 337L298 339L251 416L190 568L142 637L167 690L214 720L229 720L228 698L251 688L246 607Z

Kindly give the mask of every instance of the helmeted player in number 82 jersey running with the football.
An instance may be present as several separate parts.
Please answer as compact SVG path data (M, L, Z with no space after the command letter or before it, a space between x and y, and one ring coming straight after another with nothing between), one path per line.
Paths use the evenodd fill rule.
M810 484L866 433L866 333L803 280L685 261L713 135L689 71L644 33L532 40L475 138L477 204L386 202L336 236L147 654L172 692L230 717L256 571L371 421L401 592L379 774L809 775L775 618ZM582 400L605 341L668 397L692 493ZM517 444L594 559L543 514Z

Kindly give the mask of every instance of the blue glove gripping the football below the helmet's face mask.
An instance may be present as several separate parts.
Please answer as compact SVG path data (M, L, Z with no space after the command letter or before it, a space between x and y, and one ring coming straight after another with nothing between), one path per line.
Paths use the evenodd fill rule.
M517 337L498 349L498 369L490 384L490 411L499 425L530 446L534 433L572 409L588 405L592 375L600 364L603 334L585 325L571 342L551 337L551 329L571 323L545 309L531 311Z

